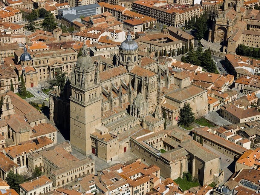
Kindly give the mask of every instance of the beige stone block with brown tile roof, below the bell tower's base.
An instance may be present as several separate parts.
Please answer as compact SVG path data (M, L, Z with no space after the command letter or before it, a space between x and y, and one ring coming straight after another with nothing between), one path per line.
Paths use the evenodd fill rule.
M53 182L55 188L66 185L85 174L94 173L94 160L78 159L71 153L71 145L62 142L43 151L28 155L28 169L40 167ZM53 158L55 156L55 158Z

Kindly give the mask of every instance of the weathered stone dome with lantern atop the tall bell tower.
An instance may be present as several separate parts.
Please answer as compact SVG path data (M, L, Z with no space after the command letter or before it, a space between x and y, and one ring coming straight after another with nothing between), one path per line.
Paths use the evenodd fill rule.
M94 63L91 57L88 55L88 48L85 44L85 41L81 49L81 56L79 56L77 60L76 67L84 70L94 70Z

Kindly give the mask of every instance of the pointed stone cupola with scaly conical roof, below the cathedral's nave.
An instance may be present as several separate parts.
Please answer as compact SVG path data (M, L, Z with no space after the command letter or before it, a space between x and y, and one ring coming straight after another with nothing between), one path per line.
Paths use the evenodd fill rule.
M134 98L133 104L130 107L133 116L141 118L146 115L147 105L141 92L139 92L136 98Z

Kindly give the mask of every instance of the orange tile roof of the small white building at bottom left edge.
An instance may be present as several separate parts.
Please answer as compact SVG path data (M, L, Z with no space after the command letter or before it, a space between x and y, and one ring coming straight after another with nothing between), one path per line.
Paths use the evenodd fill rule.
M37 188L41 188L42 186L45 186L46 184L50 183L52 185L52 180L48 179L45 175L39 176L37 178L34 178L32 180L29 180L27 182L19 184L20 187L22 187L25 191L29 192Z

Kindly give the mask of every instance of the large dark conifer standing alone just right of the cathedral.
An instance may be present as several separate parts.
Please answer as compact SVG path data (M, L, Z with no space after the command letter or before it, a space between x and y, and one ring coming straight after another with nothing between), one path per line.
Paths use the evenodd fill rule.
M194 113L192 112L192 108L190 104L184 104L184 106L180 110L180 117L178 119L178 123L180 125L184 125L184 127L189 127L195 120Z

